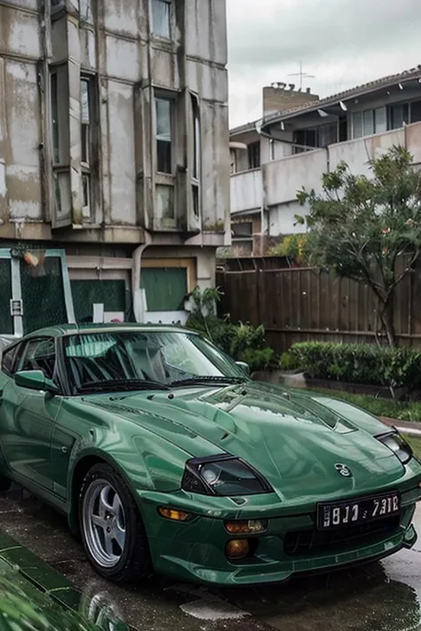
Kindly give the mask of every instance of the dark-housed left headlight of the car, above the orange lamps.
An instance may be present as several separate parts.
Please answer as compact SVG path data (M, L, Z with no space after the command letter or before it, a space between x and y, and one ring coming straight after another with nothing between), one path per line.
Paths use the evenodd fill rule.
M231 454L187 461L182 488L204 495L254 495L273 488L250 464Z

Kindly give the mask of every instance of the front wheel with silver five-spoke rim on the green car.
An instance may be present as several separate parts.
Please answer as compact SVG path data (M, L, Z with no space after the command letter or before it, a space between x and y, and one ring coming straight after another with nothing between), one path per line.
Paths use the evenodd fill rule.
M109 465L96 464L84 477L79 520L83 547L100 576L125 583L150 573L139 509L123 478Z

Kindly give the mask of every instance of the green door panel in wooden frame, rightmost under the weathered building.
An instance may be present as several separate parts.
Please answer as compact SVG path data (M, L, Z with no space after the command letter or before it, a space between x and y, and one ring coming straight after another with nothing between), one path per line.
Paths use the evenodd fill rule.
M142 268L140 287L145 289L147 295L148 312L184 311L184 299L187 296L187 268Z

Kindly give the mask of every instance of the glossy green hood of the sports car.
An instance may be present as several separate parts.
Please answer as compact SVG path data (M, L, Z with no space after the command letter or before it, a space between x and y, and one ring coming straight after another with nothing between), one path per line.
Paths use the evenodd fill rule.
M94 400L92 400L94 399ZM183 388L94 396L95 405L130 418L191 456L227 452L264 475L283 501L322 492L365 493L393 485L404 467L374 434L385 426L351 408L353 421L330 409L328 398L249 383L246 386ZM358 419L361 416L361 423ZM195 449L197 446L197 449ZM335 465L346 464L352 477Z

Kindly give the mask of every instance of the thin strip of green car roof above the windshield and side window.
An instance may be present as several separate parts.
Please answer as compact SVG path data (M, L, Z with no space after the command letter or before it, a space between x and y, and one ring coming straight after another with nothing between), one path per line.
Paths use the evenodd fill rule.
M63 335L82 335L95 333L123 333L139 331L145 333L186 333L187 329L176 325L164 324L62 324L55 327L40 328L25 335L28 337L61 337ZM188 331L195 334L195 331Z

